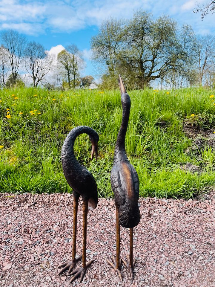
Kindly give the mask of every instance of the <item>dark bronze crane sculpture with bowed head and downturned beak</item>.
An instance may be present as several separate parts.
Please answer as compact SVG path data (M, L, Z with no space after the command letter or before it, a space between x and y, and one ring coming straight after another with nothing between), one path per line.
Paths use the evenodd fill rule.
M72 260L59 266L62 268L59 275L68 270L67 275L74 275L70 280L73 282L80 276L79 283L82 281L87 267L93 263L91 259L86 264L86 243L87 243L87 209L93 210L98 203L97 184L93 175L84 167L79 164L74 155L74 142L80 134L89 135L89 139L92 144L91 160L95 153L97 160L98 156L98 141L99 135L97 132L88 126L78 126L70 131L67 135L62 151L62 167L65 178L73 189L73 252ZM83 251L82 251L82 267L72 271L76 263L81 259L79 256L76 259L76 234L77 234L77 213L78 213L78 201L79 197L82 197L83 201Z

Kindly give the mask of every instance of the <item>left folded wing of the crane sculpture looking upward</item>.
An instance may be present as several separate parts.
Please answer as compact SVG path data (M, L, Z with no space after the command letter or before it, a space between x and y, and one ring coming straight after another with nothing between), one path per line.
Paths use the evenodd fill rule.
M111 188L114 193L115 201L122 205L125 203L125 192L122 189L122 183L120 180L119 171L116 167L113 167L110 173L110 182L111 182Z

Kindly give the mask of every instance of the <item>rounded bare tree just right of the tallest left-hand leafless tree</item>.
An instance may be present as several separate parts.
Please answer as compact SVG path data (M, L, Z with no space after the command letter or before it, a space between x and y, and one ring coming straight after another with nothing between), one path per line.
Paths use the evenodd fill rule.
M50 71L52 59L47 55L45 48L36 42L29 42L24 50L25 68L36 87Z

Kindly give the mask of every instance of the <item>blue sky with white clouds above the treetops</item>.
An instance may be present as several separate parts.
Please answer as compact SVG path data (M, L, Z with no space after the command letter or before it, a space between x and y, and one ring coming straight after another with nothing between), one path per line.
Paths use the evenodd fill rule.
M90 62L90 38L103 20L110 16L128 19L141 8L151 12L154 18L164 13L179 25L190 24L196 34L214 35L215 15L207 15L201 21L200 13L192 13L195 4L196 0L0 0L0 30L14 29L28 40L40 42L47 50L74 43L84 52L87 62L84 74L95 76Z

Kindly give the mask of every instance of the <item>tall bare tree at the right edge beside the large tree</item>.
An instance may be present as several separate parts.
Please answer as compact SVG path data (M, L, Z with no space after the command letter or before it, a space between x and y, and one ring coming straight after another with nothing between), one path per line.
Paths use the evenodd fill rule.
M199 36L196 43L199 86L202 86L202 80L205 73L215 67L215 37L211 35Z

